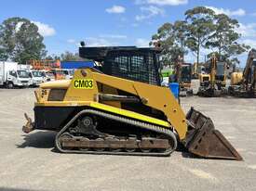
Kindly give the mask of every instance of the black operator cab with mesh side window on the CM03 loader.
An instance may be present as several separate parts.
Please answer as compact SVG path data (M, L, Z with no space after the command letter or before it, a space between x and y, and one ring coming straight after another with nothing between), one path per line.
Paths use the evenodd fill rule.
M79 56L101 62L105 74L160 85L157 48L136 46L80 47Z

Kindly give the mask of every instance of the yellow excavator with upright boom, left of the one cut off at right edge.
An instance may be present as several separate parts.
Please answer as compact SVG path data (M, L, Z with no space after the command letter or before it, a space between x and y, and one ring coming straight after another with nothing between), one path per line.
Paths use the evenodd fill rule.
M209 74L199 76L198 96L223 96L226 91L227 64L217 60L213 55L209 60Z

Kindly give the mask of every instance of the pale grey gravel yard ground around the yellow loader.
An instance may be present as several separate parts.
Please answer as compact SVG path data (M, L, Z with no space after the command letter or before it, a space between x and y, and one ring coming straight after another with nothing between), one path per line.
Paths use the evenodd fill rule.
M55 152L53 132L23 134L34 89L0 89L0 190L255 190L256 99L182 98L208 115L245 161Z

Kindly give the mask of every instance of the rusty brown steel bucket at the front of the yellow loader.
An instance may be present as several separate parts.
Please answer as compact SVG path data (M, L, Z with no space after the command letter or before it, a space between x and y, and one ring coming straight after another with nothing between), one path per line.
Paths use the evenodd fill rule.
M184 145L189 152L208 159L243 160L208 117L191 108L186 118L189 131Z

